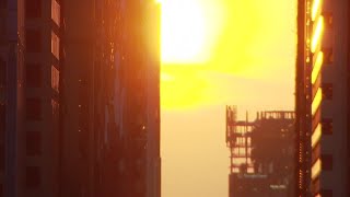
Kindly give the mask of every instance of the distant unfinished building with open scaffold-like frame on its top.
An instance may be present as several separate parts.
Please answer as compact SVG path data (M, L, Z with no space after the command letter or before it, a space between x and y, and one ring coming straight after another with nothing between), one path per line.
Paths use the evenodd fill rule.
M226 107L231 153L230 197L294 196L294 113L261 112L254 121L237 120Z

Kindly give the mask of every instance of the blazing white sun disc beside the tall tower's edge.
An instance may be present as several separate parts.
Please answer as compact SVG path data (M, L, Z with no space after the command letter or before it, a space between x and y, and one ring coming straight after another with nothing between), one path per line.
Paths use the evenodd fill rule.
M162 62L200 63L208 59L208 26L196 0L162 0Z

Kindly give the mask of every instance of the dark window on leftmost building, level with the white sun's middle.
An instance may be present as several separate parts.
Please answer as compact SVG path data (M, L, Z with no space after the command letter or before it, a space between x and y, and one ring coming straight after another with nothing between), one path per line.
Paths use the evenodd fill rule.
M42 51L42 33L39 30L26 30L26 50L28 53Z

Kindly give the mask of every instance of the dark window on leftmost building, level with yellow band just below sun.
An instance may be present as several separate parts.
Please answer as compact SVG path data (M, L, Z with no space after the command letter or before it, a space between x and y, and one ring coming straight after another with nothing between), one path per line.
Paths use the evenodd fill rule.
M30 88L40 88L43 83L42 67L36 63L26 65L26 83Z

